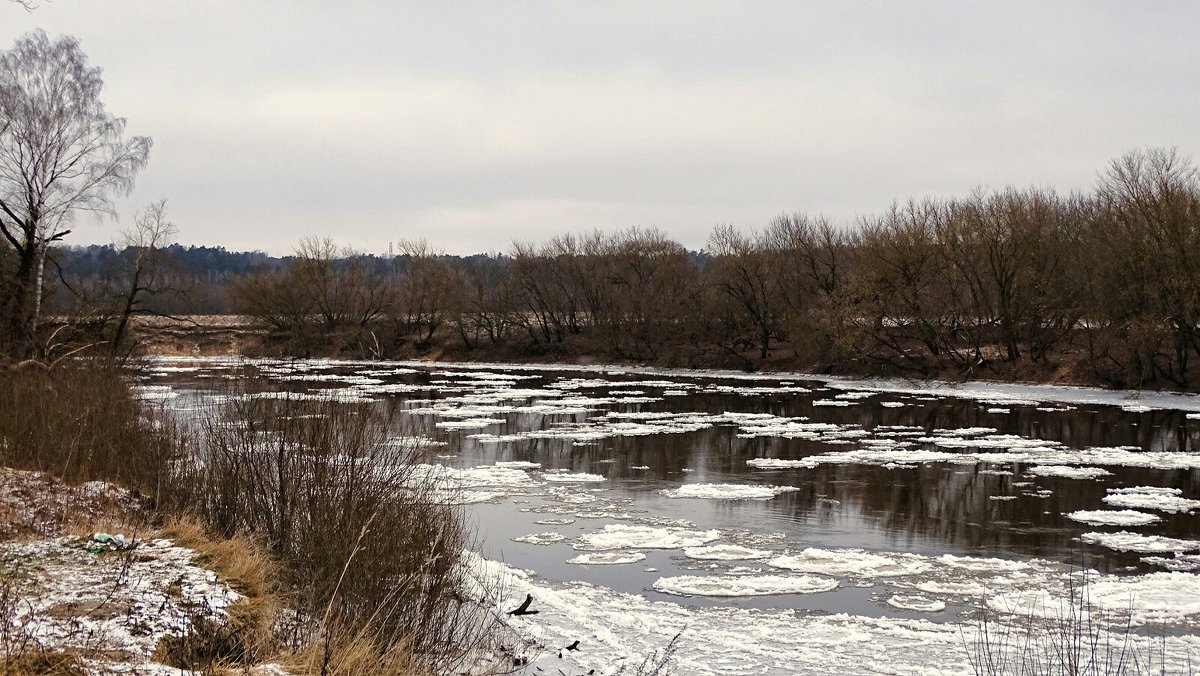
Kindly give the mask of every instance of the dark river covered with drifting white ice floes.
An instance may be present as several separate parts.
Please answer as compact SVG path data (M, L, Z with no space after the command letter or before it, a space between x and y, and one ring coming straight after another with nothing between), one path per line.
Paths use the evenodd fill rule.
M971 671L979 609L1054 615L1080 572L1200 658L1200 397L241 359L157 359L142 391L190 407L248 378L401 402L487 566L550 604L521 621L536 669L629 670L686 628L680 672Z

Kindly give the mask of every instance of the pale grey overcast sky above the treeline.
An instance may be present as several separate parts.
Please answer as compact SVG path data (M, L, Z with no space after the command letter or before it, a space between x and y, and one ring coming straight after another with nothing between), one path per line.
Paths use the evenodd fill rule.
M503 252L782 213L1088 190L1200 154L1200 2L0 0L0 49L77 37L154 150L182 244Z

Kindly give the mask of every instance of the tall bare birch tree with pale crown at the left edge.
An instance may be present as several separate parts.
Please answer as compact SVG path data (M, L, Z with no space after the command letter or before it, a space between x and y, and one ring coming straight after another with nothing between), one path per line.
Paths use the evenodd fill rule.
M16 255L0 312L16 354L35 351L48 245L78 213L110 214L150 154L149 138L125 138L102 86L73 37L38 30L0 53L0 235Z

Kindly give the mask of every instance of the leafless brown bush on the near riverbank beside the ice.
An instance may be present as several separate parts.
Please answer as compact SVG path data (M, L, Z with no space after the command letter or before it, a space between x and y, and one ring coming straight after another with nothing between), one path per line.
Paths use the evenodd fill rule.
M218 533L265 539L307 618L298 646L325 646L328 663L349 641L444 671L496 620L463 596L462 515L416 473L419 450L395 425L394 408L235 397L204 418L184 492Z

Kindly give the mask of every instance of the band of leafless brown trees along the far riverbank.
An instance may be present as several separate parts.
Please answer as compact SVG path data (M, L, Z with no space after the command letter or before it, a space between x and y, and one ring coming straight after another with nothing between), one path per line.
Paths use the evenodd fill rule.
M498 256L397 247L60 247L48 304L97 327L244 315L262 349L294 355L1198 383L1200 178L1170 150L1124 155L1088 193L980 190L853 225L784 214L758 231L718 226L703 251L642 228Z

